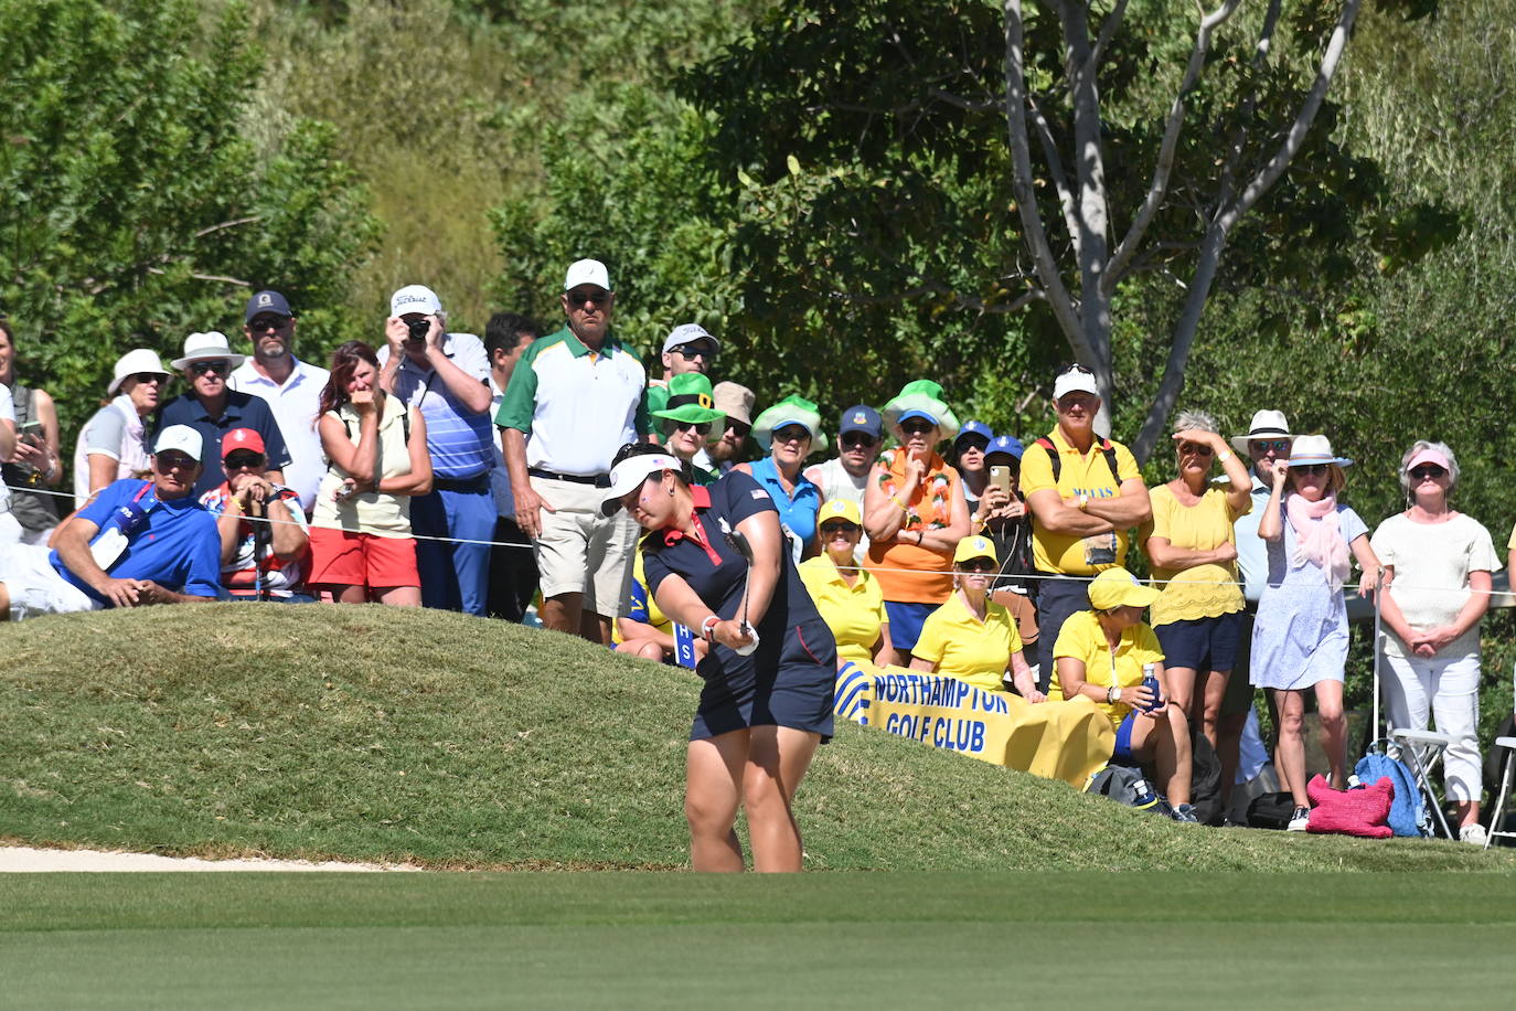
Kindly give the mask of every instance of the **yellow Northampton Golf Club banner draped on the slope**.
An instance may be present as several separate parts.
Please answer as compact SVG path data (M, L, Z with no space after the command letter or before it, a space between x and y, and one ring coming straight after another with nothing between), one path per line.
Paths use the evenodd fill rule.
M837 671L837 714L1079 790L1116 747L1116 732L1088 699L1032 705L1007 691L905 667Z

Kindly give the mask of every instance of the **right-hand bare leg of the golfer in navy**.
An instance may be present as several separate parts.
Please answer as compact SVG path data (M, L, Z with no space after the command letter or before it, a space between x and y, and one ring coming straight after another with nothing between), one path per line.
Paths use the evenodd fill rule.
M755 726L743 775L753 870L800 870L800 826L791 802L822 738L785 726Z

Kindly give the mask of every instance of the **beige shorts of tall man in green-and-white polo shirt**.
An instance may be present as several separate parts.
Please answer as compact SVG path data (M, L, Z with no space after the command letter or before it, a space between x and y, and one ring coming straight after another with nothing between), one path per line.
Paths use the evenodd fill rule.
M543 532L532 541L543 597L582 593L584 609L615 618L626 612L632 590L632 549L641 527L625 511L600 515L605 488L532 477L532 491L556 512L543 509Z

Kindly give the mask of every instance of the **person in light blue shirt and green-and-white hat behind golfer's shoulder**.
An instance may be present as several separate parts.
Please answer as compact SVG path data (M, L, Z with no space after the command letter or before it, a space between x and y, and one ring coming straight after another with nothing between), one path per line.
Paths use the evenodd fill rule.
M800 396L788 396L758 415L753 438L769 453L734 470L752 474L779 509L779 524L790 540L790 555L796 564L816 553L816 511L822 508L822 490L800 470L811 450L826 449L822 415L816 405Z

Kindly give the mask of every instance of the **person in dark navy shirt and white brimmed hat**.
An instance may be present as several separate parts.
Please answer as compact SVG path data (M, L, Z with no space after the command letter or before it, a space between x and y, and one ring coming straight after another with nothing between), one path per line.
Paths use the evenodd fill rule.
M268 456L268 470L264 471L264 477L274 484L283 484L283 470L290 465L290 450L285 449L283 434L279 430L273 409L262 397L236 393L226 385L232 370L244 359L244 355L232 353L226 343L226 333L211 330L186 336L183 358L170 362L190 380L190 393L182 393L162 406L158 412L156 427L188 424L211 447L200 467L200 477L194 488L196 497L226 480L215 447L221 444L221 437L232 429L253 429L262 437Z

